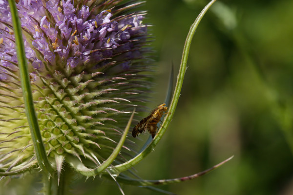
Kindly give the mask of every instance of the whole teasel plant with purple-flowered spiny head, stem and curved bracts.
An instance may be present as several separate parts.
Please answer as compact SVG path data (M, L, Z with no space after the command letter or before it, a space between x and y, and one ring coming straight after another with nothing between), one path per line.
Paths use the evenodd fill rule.
M129 128L145 103L154 73L149 25L137 0L3 0L0 2L0 179L42 175L42 193L67 194L74 175L153 187L190 180L145 180L133 166L159 143L171 122L193 34L190 27L168 113L143 149ZM161 103L161 102L160 102ZM163 117L162 117L163 118Z

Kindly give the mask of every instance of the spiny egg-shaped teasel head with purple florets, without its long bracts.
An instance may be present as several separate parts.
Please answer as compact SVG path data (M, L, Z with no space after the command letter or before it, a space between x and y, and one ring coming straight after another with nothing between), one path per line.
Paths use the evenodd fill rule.
M147 98L146 72L152 65L147 59L145 12L132 10L140 4L135 0L122 3L17 2L42 140L59 171L68 158L82 165L102 163L117 145L131 111ZM120 153L121 161L134 155L133 141L127 138L124 145L128 152ZM34 166L38 163L24 112L11 14L3 0L0 172L20 173Z

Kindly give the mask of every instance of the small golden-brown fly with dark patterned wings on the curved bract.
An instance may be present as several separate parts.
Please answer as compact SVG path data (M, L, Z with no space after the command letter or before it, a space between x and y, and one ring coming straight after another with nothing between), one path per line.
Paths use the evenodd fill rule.
M160 121L164 112L167 112L166 104L161 104L158 108L155 108L151 113L142 119L132 130L132 136L137 137L139 134L148 131L151 134L151 137L154 138L157 133L157 124Z

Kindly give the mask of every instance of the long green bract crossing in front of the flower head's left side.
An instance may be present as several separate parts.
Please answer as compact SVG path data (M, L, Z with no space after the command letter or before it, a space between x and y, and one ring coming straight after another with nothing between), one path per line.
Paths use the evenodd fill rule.
M20 69L21 88L22 88L22 95L24 100L25 114L29 124L31 137L32 137L32 141L33 141L35 152L36 152L36 157L37 157L39 166L43 171L52 172L53 168L51 167L45 152L45 148L42 142L42 136L41 136L41 132L40 132L39 124L38 124L38 118L34 108L28 65L27 65L27 61L25 57L25 49L24 49L24 44L22 40L21 21L18 16L15 0L8 0L8 2L10 6L12 23L14 28L15 44L16 44L18 65Z

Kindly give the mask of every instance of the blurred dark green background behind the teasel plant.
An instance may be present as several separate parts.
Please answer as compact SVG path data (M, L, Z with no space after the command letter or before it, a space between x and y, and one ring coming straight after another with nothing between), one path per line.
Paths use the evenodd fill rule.
M171 64L176 80L189 27L208 2L147 0L140 8L153 25L158 65L149 107L164 102ZM292 0L217 0L193 37L173 121L135 167L139 176L188 176L234 155L208 175L159 188L178 195L293 195L292 8ZM122 187L126 195L159 195ZM110 182L87 189L119 194Z

